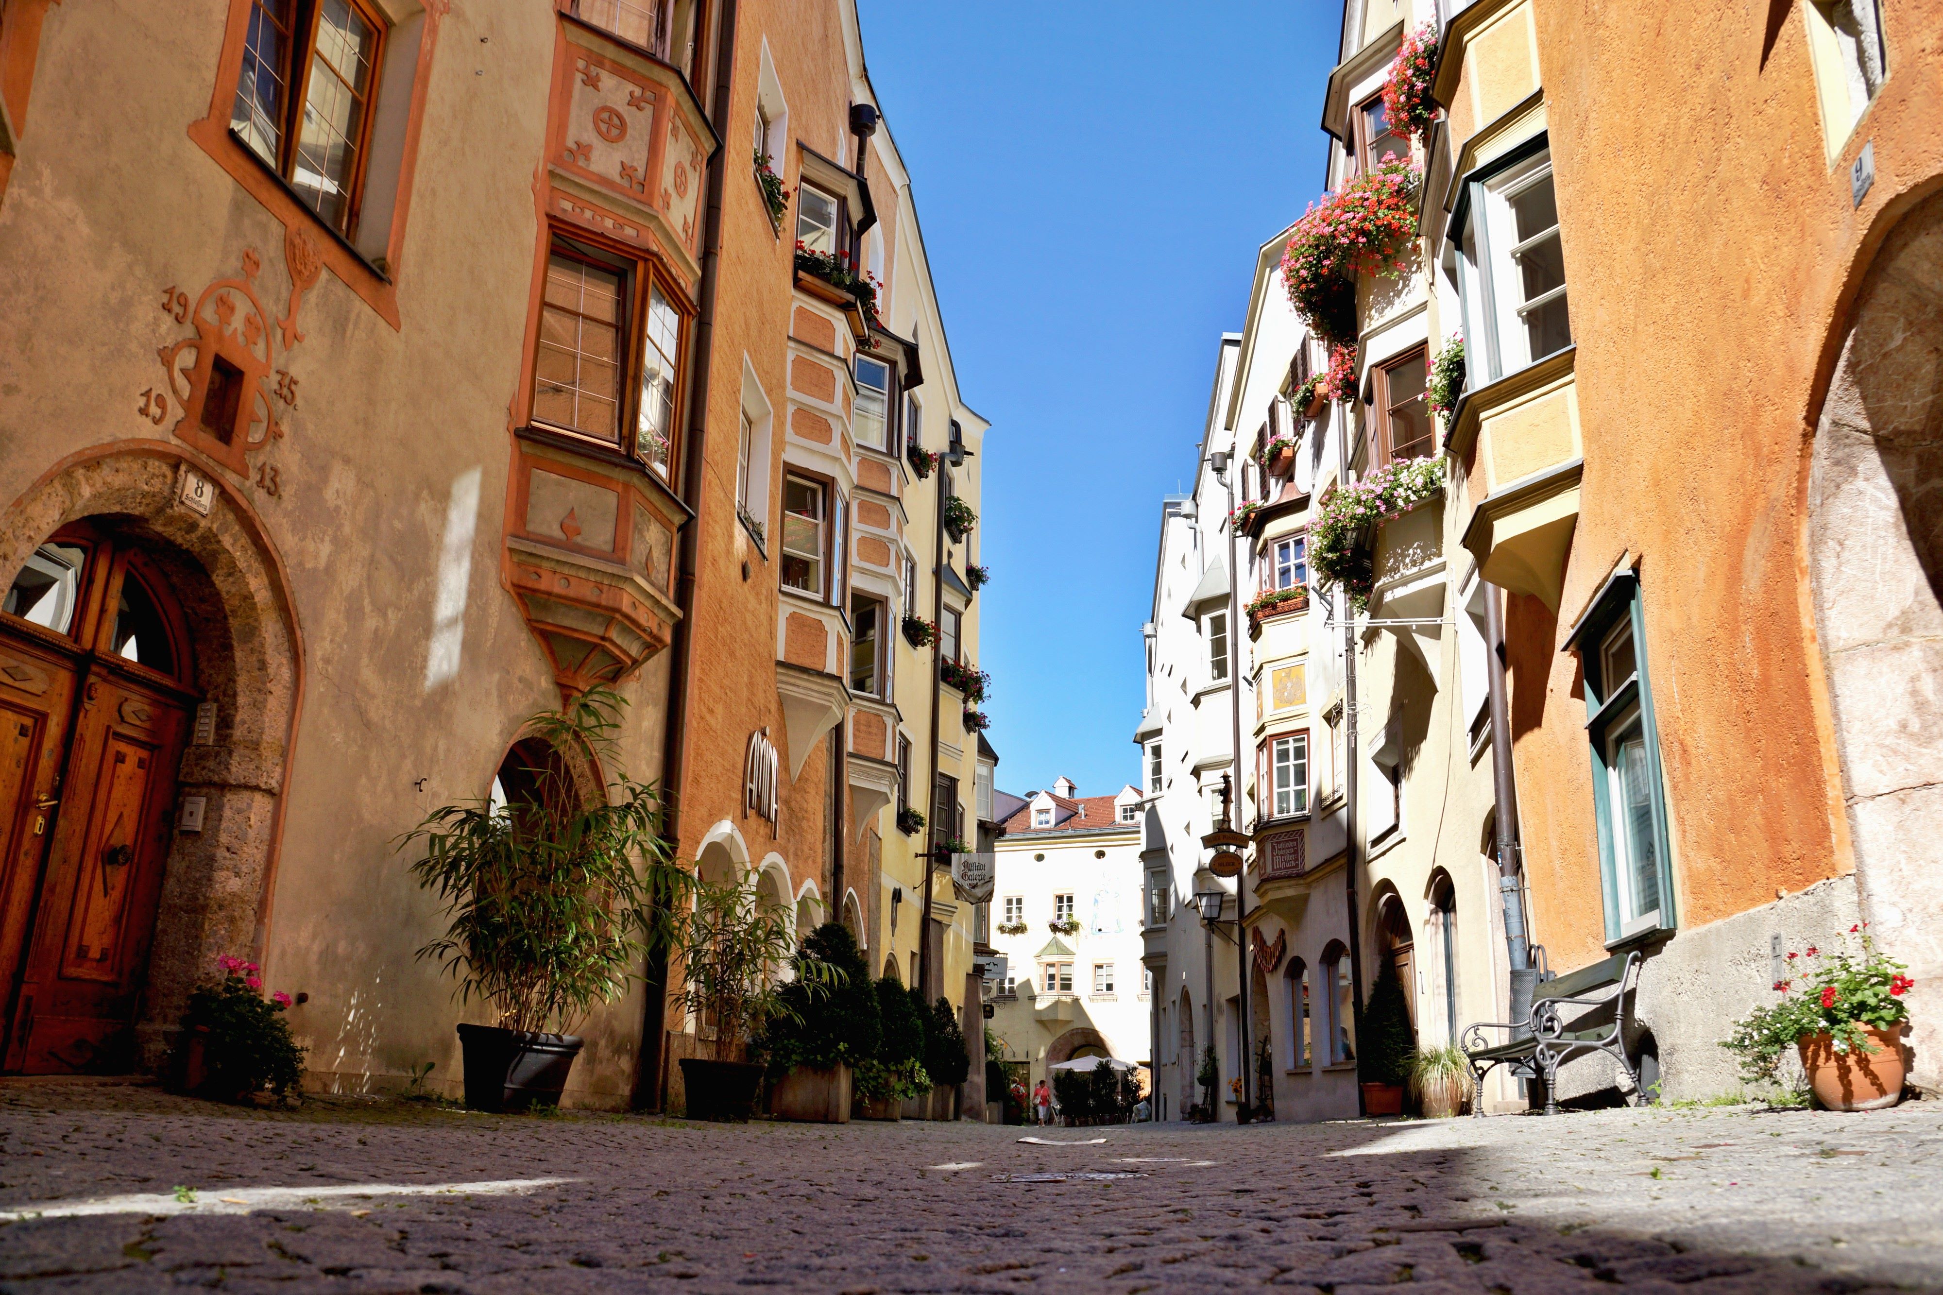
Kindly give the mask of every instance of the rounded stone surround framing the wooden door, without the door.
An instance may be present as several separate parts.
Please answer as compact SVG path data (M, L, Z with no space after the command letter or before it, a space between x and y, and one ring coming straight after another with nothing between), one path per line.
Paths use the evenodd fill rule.
M204 797L202 830L177 832L169 846L136 1027L138 1064L155 1068L188 990L220 955L266 961L303 640L288 574L255 509L220 471L175 445L122 441L49 469L0 519L0 587L45 537L80 519L140 541L167 572L208 708L177 776L185 795Z

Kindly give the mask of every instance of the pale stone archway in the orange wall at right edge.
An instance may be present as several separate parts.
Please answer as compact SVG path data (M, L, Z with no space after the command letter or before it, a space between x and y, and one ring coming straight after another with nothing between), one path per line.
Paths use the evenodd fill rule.
M1943 1083L1943 194L1883 239L1807 486L1809 585L1863 912L1910 964L1912 1081Z

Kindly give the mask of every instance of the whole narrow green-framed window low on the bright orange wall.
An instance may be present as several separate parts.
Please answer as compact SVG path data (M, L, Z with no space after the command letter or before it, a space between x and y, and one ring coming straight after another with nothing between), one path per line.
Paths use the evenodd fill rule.
M1585 671L1609 943L1675 926L1665 782L1644 642L1640 581L1632 572L1607 581L1566 640Z

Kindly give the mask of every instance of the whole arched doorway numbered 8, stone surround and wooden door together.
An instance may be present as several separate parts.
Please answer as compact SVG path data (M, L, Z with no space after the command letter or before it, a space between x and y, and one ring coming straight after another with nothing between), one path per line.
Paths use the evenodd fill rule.
M0 521L0 578L27 612L0 616L0 706L39 760L0 788L4 1066L153 1068L220 955L264 961L303 679L290 585L249 504L159 443L47 472Z

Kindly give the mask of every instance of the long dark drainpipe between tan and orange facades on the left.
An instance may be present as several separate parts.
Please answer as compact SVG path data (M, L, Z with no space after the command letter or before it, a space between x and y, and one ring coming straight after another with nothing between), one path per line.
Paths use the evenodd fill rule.
M734 12L736 0L723 0L719 27L715 33L715 103L709 111L711 124L729 119L734 82ZM682 502L694 517L682 529L680 558L676 568L674 597L682 609L682 618L674 622L672 644L668 644L668 731L661 758L663 821L661 834L678 854L682 842L678 795L668 788L680 788L684 752L688 749L688 642L690 622L696 611L696 550L701 533L701 482L703 455L709 441L709 369L715 342L715 288L721 274L723 255L723 177L729 167L729 148L715 154L709 167L709 210L701 228L701 301L696 311L696 350L694 366L688 373L688 457L682 461ZM647 999L641 1007L641 1046L633 1077L633 1106L639 1110L661 1110L661 1036L666 1013L668 959L665 953L651 953L645 968Z

